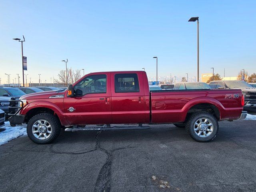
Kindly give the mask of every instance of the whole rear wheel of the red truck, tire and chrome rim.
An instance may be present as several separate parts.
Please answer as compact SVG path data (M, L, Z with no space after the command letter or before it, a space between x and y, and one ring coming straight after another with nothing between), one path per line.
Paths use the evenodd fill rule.
M186 123L186 132L198 142L209 142L216 137L218 120L207 112L196 112Z

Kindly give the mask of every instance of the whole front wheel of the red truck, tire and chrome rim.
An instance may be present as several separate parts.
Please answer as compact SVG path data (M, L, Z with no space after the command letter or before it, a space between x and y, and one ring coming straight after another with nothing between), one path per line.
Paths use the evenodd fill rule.
M60 135L61 124L56 116L40 113L28 121L27 134L36 144L48 144Z

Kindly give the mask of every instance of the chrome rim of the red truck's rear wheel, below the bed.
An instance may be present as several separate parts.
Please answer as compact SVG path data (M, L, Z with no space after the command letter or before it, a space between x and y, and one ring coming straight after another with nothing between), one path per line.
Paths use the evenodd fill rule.
M208 137L210 134L212 134L213 128L214 127L211 120L207 118L200 118L196 120L194 124L194 132L199 137Z

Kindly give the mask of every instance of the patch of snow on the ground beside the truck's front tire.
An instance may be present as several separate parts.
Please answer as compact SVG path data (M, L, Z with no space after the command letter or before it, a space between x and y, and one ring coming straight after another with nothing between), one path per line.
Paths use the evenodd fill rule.
M3 132L0 132L0 145L7 143L8 141L15 139L20 136L26 136L27 135L27 129L26 125L21 126L10 126L10 122L4 122L5 126L1 127L5 130Z

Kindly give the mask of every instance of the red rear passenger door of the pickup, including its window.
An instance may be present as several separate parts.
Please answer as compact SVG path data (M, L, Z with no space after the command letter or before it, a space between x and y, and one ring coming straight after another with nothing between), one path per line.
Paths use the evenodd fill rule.
M113 124L145 122L142 72L111 72L111 92Z

